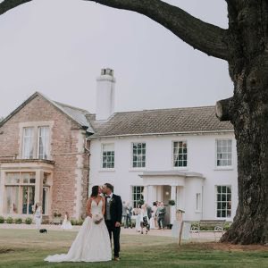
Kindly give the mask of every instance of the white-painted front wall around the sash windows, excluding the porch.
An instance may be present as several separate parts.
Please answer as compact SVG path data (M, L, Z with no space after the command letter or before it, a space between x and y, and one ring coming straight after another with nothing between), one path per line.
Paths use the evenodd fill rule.
M232 139L232 167L228 170L216 167L216 139ZM102 185L110 182L114 186L114 192L119 194L122 200L131 200L131 186L142 186L143 179L138 175L144 171L172 171L172 142L187 140L188 143L188 167L180 169L184 172L199 172L205 177L203 180L203 210L196 212L196 194L202 191L202 180L187 178L185 192L182 197L181 188L178 200L186 210L188 220L214 219L215 186L230 185L232 192L232 220L238 205L237 188L237 154L236 141L233 133L203 134L203 135L155 135L143 137L105 138L91 139L90 144L90 173L89 188L93 185ZM105 143L114 143L114 169L113 171L102 169L102 146ZM147 143L147 164L145 169L133 169L131 167L131 143Z

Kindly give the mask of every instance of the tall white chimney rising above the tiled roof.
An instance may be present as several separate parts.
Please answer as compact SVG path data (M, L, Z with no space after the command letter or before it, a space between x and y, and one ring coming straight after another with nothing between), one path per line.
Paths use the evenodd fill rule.
M102 69L96 79L96 120L106 121L114 113L114 84L112 69Z

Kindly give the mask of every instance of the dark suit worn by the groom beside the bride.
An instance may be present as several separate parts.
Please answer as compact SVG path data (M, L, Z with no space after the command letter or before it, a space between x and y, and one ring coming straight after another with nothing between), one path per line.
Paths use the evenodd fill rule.
M106 202L110 202L110 220L107 220L107 211L105 209L105 223L109 232L110 239L112 240L113 233L113 255L119 257L120 252L120 230L121 227L115 227L115 222L121 223L121 197L113 194L111 200L105 197Z

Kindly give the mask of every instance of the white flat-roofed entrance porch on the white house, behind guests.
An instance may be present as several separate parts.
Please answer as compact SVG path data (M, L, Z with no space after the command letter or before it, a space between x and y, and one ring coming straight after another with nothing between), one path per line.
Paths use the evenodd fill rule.
M172 224L178 209L185 211L184 219L202 219L204 176L197 172L143 172L144 199L147 204L162 201L166 207L165 222ZM169 205L174 200L175 205Z

